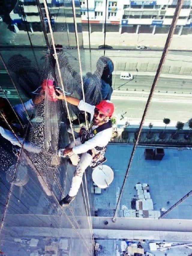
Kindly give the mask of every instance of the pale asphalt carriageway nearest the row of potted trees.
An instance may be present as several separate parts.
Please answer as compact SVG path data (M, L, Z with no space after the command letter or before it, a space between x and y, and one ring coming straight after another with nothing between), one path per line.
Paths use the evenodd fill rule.
M125 119L140 121L146 105L145 100L126 98L113 99L115 104L115 116L120 118L121 114L127 112ZM146 116L149 122L162 121L164 117L170 118L171 121L187 122L192 118L192 102L177 101L152 101Z

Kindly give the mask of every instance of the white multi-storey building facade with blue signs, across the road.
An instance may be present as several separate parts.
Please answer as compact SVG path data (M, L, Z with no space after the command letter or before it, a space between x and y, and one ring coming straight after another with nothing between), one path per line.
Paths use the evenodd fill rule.
M177 1L80 1L82 23L89 23L91 32L168 33ZM175 34L191 34L192 1L184 1ZM88 17L89 16L89 17Z

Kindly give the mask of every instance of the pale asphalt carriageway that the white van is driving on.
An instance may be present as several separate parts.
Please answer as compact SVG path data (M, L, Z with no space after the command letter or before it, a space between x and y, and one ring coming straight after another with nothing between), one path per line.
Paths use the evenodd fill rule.
M113 76L113 83L115 79L115 86L114 89L116 91L120 90L126 90L128 91L134 91L135 89L137 91L150 91L154 77L153 76L134 76L134 79L129 80L121 80L120 75L117 74L116 78ZM183 79L174 79L174 78L160 78L159 82L156 86L156 91L160 92L177 92L177 93L190 93L192 92L192 85L191 80L183 80Z

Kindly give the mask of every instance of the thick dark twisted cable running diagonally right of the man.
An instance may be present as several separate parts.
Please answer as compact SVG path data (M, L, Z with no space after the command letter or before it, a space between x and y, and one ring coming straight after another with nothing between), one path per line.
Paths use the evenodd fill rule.
M152 100L152 96L153 96L153 93L154 93L154 90L155 90L155 86L156 86L156 84L157 84L157 82L159 80L161 69L162 69L162 67L164 65L164 61L165 61L165 58L167 56L167 52L168 52L168 49L169 49L169 46L170 46L170 43L171 43L171 39L172 39L173 33L175 31L176 23L177 23L177 20L178 20L178 17L179 17L179 12L180 12L180 10L182 8L183 1L184 0L178 0L178 2L177 2L177 6L176 6L176 9L175 9L175 14L174 14L171 26L170 26L169 34L167 36L167 41L165 43L164 51L162 53L161 60L159 62L159 66L158 66L157 72L155 74L155 78L154 78L154 81L153 81L153 84L152 84L152 87L151 87L151 91L149 93L149 97L148 97L148 100L147 100L147 103L146 103L146 106L145 106L145 110L143 112L143 116L142 116L142 119L141 119L141 122L140 122L140 127L139 127L139 130L138 130L137 140L135 141L134 146L133 146L133 150L131 152L131 157L130 157L128 168L127 168L127 171L126 171L126 174L125 174L125 179L124 179L123 184L122 184L122 188L121 188L121 191L120 191L120 194L119 194L119 198L118 198L118 201L117 201L115 213L114 213L114 216L113 216L113 220L114 221L115 221L115 216L116 216L117 209L118 209L118 206L119 206L119 202L120 202L121 197L122 197L122 193L123 193L123 189L124 189L124 186L125 186L125 182L127 180L128 173L129 173L129 170L130 170L130 167L131 167L131 163L133 161L135 149L136 149L137 144L139 143L141 131L142 131L142 128L143 128L143 123L145 121L145 117L146 117L147 111L149 109L149 104L150 104L150 102Z

